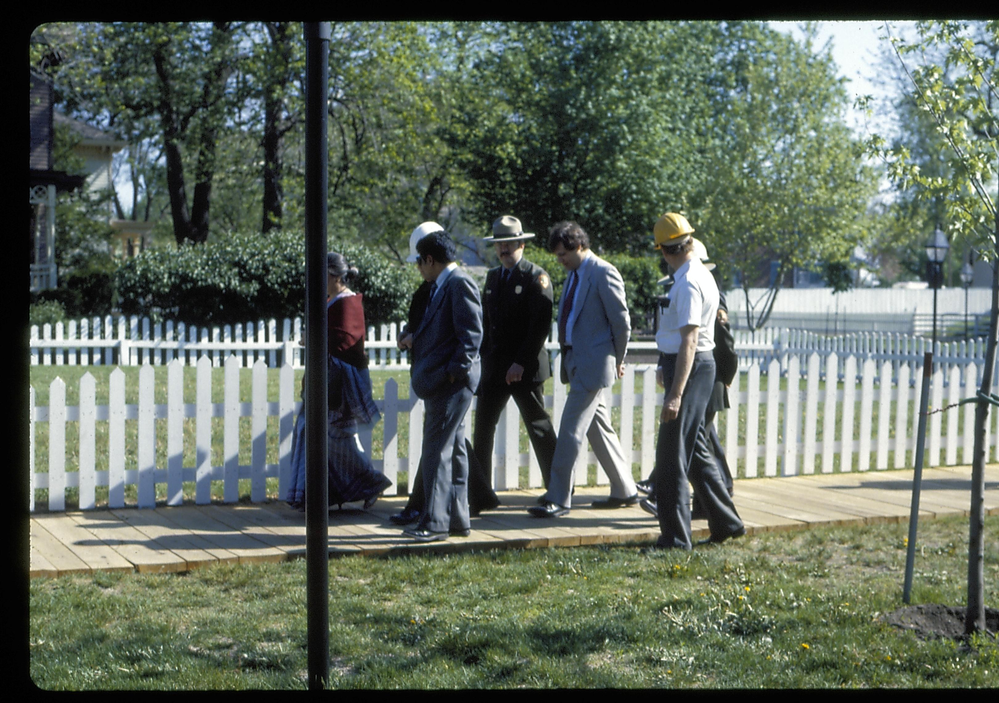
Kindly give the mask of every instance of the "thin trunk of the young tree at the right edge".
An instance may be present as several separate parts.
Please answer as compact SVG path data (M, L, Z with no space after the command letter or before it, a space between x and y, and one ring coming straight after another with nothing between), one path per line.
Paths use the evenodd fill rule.
M999 214L996 215L993 246L996 260L992 262L992 311L989 315L989 341L985 350L985 371L980 392L992 392L992 371L996 364L996 344L999 342ZM975 403L975 449L971 463L971 517L968 528L968 607L964 615L964 632L985 631L985 422L991 403L979 398Z

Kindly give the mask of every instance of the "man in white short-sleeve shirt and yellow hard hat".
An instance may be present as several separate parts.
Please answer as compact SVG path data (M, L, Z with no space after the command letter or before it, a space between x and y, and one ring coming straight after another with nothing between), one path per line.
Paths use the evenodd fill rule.
M655 248L675 272L659 316L656 375L666 389L655 445L655 499L642 506L657 514L657 547L690 549L690 489L707 513L709 540L745 533L704 429L704 409L714 387L714 319L718 287L693 253L693 228L677 213L656 222ZM654 502L655 505L648 503Z

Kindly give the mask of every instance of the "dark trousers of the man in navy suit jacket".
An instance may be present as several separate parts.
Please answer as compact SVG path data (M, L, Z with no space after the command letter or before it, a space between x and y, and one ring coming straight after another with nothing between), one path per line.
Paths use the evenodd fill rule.
M447 532L469 528L469 454L465 413L472 390L424 398L424 446L418 473L423 476L424 504L418 529Z

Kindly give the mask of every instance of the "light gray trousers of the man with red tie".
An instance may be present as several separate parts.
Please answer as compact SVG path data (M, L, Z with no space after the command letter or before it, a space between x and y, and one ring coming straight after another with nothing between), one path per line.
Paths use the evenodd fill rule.
M551 458L551 479L544 498L562 507L571 507L573 469L579 452L586 446L586 439L593 445L596 460L610 479L610 495L628 498L637 489L631 477L631 461L625 459L617 434L610 424L610 408L604 402L608 388L586 390L573 383L575 365L571 354L572 350L566 350L562 358L568 373L569 389L558 424L558 439Z

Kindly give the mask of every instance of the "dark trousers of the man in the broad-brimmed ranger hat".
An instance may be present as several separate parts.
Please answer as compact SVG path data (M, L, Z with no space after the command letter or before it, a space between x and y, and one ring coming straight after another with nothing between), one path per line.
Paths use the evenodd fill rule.
M527 426L527 436L534 446L544 487L548 487L551 457L555 453L557 435L551 424L551 418L544 410L543 388L543 383L531 381L519 381L508 385L490 383L483 384L479 388L474 432L477 461L469 468L469 505L473 509L489 508L499 503L500 499L493 489L493 446L496 441L497 422L500 421L500 414L511 395L517 409L520 410L523 423Z

